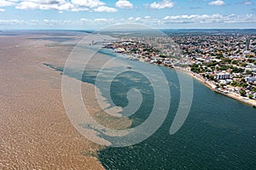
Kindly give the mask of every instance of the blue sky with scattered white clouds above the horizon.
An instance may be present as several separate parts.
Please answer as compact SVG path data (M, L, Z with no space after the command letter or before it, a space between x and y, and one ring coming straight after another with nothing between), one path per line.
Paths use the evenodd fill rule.
M256 28L256 0L0 0L0 30Z

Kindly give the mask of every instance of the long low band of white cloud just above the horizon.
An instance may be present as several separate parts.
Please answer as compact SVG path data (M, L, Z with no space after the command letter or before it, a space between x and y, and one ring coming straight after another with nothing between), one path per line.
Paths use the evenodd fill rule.
M167 15L163 18L156 17L129 17L121 19L113 18L81 18L79 20L0 20L0 26L110 26L113 24L146 24L148 26L180 26L188 24L193 26L233 26L239 24L256 23L255 14L236 15L236 14L184 14L184 15ZM215 25L214 25L215 24Z

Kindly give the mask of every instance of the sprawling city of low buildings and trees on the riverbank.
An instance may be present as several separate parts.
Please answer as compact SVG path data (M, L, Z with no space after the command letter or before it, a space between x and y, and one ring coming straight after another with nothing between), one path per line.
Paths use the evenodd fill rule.
M218 93L256 105L255 34L128 36L104 48L186 71Z

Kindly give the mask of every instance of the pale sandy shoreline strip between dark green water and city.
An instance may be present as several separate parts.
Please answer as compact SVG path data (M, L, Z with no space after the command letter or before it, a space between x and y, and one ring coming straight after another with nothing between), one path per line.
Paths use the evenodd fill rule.
M194 79L196 79L197 81L201 82L202 84L204 84L207 88L210 88L213 92L217 93L217 94L223 94L224 96L227 96L231 99L236 99L236 101L239 101L243 104L249 105L253 108L256 108L256 101L253 101L252 99L244 99L244 97L242 96L237 96L236 94L225 94L223 92L218 91L216 88L213 87L213 84L210 84L209 82L207 82L206 80L202 79L201 77L198 77L195 73L192 73L191 71L186 71L180 67L173 67L174 70L176 71L181 71L184 74L189 75L190 77L193 77Z

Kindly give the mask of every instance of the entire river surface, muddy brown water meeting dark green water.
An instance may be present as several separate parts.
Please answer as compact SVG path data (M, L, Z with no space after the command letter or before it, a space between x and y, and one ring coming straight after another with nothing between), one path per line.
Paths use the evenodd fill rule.
M183 81L192 78L183 71L127 59L124 54L101 45L78 44L87 33L57 33L27 31L3 35L0 167L255 169L255 108L218 94L197 79L193 79L193 86L182 87L181 76ZM113 40L106 35L96 37ZM67 68L65 72L67 54L72 56L72 53L78 60L71 60L73 68ZM89 59L90 56L93 57ZM84 63L79 59L89 59L84 70ZM166 82L160 82L162 86L152 84L152 80L160 80L155 71L160 71L166 78ZM117 73L116 77L110 80L113 73ZM125 145L121 138L126 133L119 133L119 139L105 128L97 129L95 124L86 122L81 116L79 129L85 130L89 137L102 145L95 143L73 126L73 117L68 117L69 110L63 107L63 77L81 87L79 99L73 98L72 93L68 94L67 104L76 109L78 101L83 101L90 116L106 129L120 131L139 127L151 116L153 109L156 119L163 119L163 123L155 132L150 129L153 125L148 127L148 132L154 132L152 135L139 133L148 137L141 142L112 147L119 146L119 143ZM105 88L109 82L110 88ZM156 88L161 90L158 100L155 100ZM182 96L184 88L191 88L192 96ZM72 92L73 89L68 90ZM133 95L136 98L132 98ZM182 126L170 134L182 97L192 98L192 105L188 116L183 117ZM163 99L170 99L169 107ZM155 102L158 104L156 108ZM127 108L130 103L134 107ZM127 116L125 111L134 109L137 110ZM164 111L167 111L166 116Z

